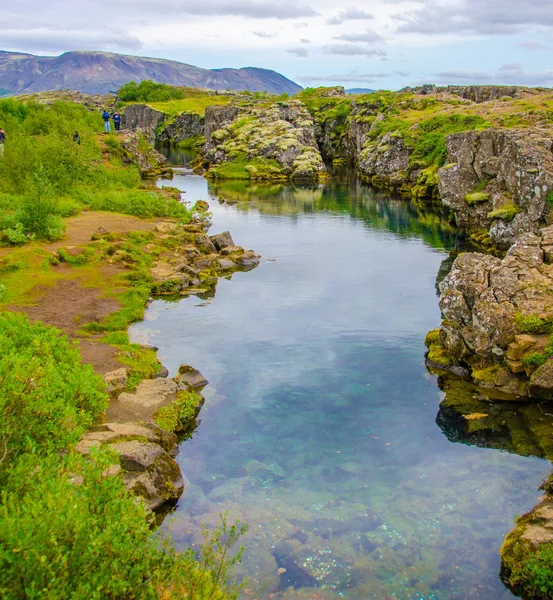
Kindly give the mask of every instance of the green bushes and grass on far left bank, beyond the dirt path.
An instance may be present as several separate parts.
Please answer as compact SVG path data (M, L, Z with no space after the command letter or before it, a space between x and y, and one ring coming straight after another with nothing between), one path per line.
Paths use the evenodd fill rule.
M143 184L136 159L120 136L97 135L100 115L84 106L5 99L0 100L0 122L6 131L0 159L0 242L60 239L63 218L83 208L188 218L177 200ZM73 141L76 130L81 144ZM139 139L137 151L144 150L148 147L141 147Z

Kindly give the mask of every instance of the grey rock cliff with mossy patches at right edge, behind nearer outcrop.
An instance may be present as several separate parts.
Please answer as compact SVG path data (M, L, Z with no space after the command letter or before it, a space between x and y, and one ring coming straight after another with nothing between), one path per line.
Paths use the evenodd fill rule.
M546 224L553 200L553 140L547 129L488 129L446 138L438 172L442 202L469 232L499 248Z

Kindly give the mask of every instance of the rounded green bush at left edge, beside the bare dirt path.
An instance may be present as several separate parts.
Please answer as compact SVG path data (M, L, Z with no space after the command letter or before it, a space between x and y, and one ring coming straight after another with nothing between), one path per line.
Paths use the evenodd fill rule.
M106 407L105 385L53 327L0 313L0 446L5 468L25 453L64 450Z

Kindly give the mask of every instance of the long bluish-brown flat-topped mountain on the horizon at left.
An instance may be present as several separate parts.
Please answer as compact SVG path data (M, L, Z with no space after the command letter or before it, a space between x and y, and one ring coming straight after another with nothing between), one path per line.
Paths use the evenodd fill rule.
M0 51L0 95L71 89L87 94L114 92L129 81L212 90L250 90L295 94L302 88L276 71L200 69L161 58L126 56L111 52L66 52L61 56L34 56Z

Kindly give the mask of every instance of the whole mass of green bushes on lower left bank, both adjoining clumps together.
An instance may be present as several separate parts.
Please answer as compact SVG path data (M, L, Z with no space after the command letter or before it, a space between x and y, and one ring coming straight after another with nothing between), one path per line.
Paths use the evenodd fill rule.
M104 410L105 384L67 338L0 313L0 596L6 600L237 598L222 523L200 560L153 534L143 504L109 475L117 457L72 448Z

